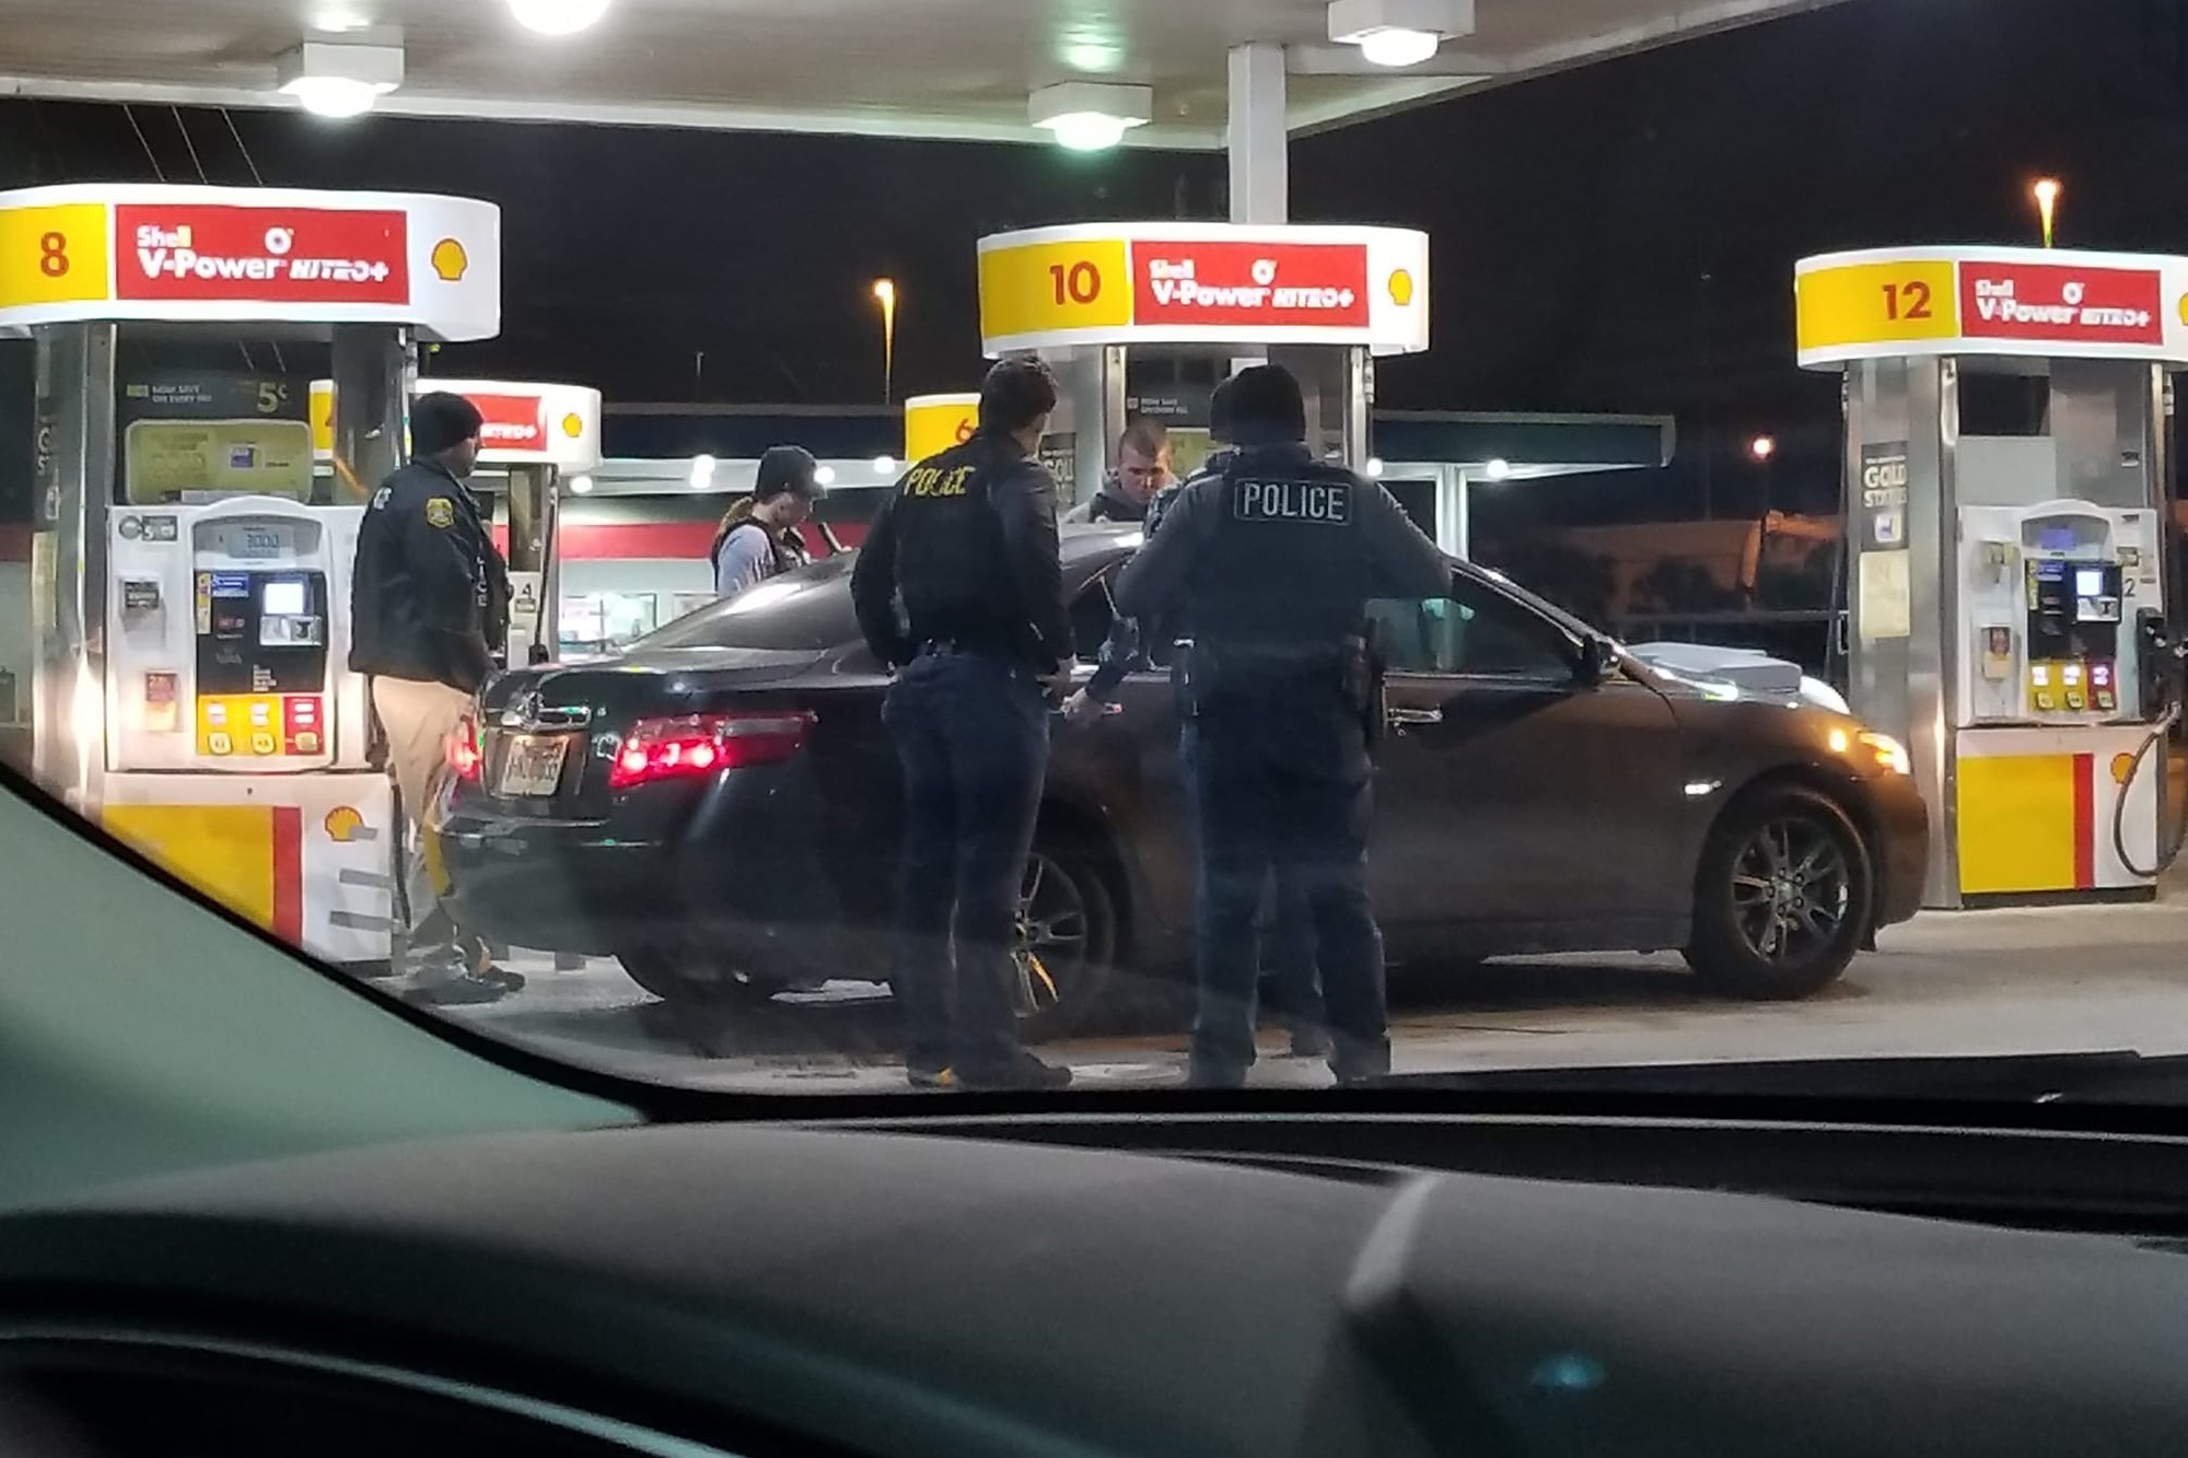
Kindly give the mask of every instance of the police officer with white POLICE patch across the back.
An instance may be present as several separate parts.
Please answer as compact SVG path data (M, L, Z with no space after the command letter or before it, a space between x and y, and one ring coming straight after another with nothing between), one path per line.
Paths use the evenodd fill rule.
M1451 569L1381 486L1315 460L1300 381L1232 381L1238 453L1179 493L1116 585L1120 613L1184 604L1201 836L1192 1081L1254 1062L1254 913L1271 869L1313 917L1339 1084L1389 1071L1383 937L1368 902L1370 598L1433 598Z

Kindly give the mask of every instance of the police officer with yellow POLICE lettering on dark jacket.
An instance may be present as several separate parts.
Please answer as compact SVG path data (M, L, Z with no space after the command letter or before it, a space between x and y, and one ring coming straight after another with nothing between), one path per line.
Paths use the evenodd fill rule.
M1055 407L1046 366L989 370L980 429L897 482L851 574L858 626L899 670L882 709L906 808L891 981L915 1088L1070 1084L1017 1044L1011 1003L1048 683L1072 661L1055 482L1033 460Z

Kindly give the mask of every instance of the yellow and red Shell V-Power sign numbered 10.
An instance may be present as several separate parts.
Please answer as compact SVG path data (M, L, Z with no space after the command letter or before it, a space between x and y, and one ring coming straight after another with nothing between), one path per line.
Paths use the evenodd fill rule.
M1429 348L1429 236L1407 228L1085 223L980 239L989 355L1072 344Z

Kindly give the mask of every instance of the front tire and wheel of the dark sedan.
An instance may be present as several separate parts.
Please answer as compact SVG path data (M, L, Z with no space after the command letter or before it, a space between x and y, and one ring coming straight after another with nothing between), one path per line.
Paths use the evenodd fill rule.
M1875 878L1847 812L1803 786L1733 801L1702 847L1687 965L1722 996L1805 998L1869 930Z

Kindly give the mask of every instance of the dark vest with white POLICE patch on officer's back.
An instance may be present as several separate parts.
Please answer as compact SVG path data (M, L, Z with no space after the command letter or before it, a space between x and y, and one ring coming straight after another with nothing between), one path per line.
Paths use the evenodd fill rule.
M1186 593L1195 641L1302 659L1352 641L1372 589L1359 493L1300 449L1234 455Z

